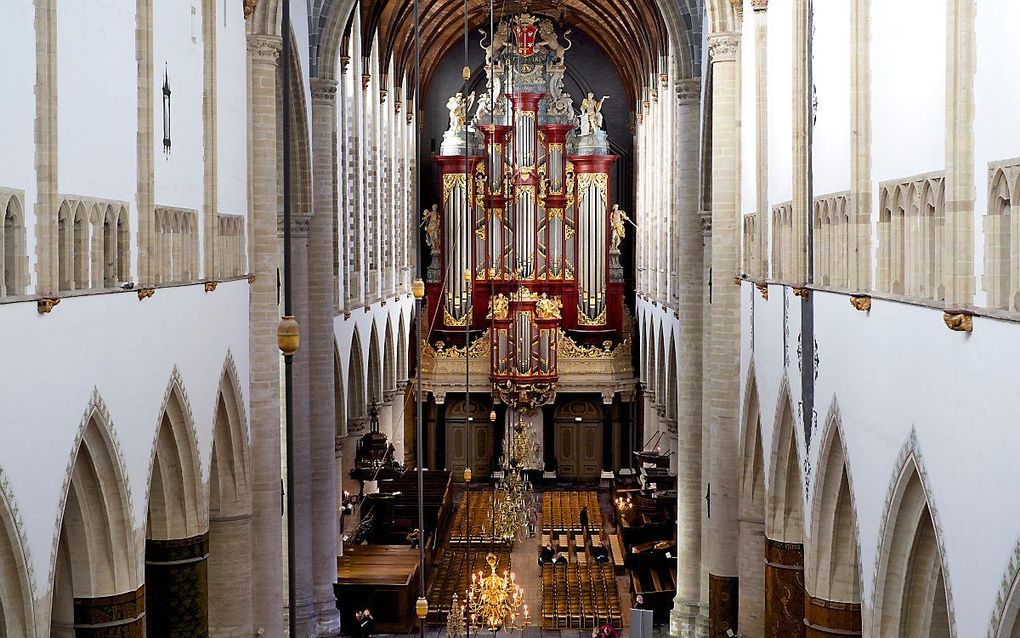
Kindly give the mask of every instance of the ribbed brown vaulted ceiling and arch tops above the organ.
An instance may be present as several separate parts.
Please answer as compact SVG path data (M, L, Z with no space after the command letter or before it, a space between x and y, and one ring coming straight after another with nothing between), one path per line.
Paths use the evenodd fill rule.
M444 54L463 38L464 4L464 0L419 0L423 90ZM583 32L606 51L628 93L635 97L660 71L660 57L667 54L670 42L685 66L683 75L700 75L703 5L704 0L494 0L492 6L497 21L501 15L527 10L553 18L561 33L566 29ZM490 0L467 0L472 34L489 30L490 6ZM313 75L319 64L333 66L327 56L347 50L355 12L360 17L364 53L369 52L369 43L377 42L376 72L392 61L395 79L413 73L412 0L309 0L309 10ZM343 14L342 21L338 13ZM341 42L330 46L330 39Z

